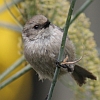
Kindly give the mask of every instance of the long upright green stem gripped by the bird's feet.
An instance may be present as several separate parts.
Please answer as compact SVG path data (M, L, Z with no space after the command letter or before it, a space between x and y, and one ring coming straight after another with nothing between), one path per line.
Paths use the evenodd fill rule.
M76 0L72 0L70 8L69 8L69 13L68 13L68 17L67 17L65 28L64 28L64 34L63 34L63 37L62 37L61 48L60 48L59 56L58 56L58 61L59 62L63 60L66 37L67 37L68 28L69 28L69 25L70 25L71 15L72 15L72 12L73 12L73 9L74 9L75 2L76 2ZM49 93L48 93L47 100L51 100L51 97L52 97L52 94L53 94L53 90L54 90L55 84L57 82L57 77L59 75L59 72L60 72L60 68L56 67L56 70L55 70L55 73L54 73L54 77L53 77L53 81L51 83L51 87L50 87L50 90L49 90Z

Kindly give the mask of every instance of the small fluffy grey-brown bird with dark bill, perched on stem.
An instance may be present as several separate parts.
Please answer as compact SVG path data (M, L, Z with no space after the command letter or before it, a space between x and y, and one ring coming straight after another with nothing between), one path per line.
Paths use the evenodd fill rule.
M33 16L24 26L22 38L24 43L24 55L40 79L52 80L62 41L63 30L50 23L43 15ZM71 40L66 38L64 50L69 62L75 61L75 48ZM68 68L62 68L58 78L73 69L72 77L79 86L85 84L86 78L96 80L96 77L86 69L76 64L68 64ZM67 69L67 70L66 70Z

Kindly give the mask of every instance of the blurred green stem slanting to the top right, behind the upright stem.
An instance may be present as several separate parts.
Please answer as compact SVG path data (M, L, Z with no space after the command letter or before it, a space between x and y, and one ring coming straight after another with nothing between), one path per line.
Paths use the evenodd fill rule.
M76 14L73 16L70 24L93 2L93 0L86 0L86 2L77 10Z

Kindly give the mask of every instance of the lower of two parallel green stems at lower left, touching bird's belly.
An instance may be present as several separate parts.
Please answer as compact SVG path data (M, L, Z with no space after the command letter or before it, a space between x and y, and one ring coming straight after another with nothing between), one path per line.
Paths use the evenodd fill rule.
M5 80L4 82L2 82L0 84L0 89L4 88L6 85L8 85L9 83L11 83L12 81L16 80L18 77L22 76L23 74L25 74L26 72L28 72L32 67L30 65L25 66L25 68L23 68L22 70L20 70L19 72L17 72L16 74L14 74L12 77L8 78L7 80Z

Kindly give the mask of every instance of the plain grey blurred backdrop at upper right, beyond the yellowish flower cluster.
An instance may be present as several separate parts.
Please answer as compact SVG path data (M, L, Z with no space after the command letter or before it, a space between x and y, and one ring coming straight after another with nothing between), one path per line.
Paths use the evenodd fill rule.
M84 1L85 0L77 0L75 8L78 9L80 5L83 4ZM94 39L97 44L97 49L100 53L100 39L99 39L100 27L99 27L99 21L98 21L100 18L99 5L100 5L99 0L93 0L93 3L90 4L90 6L84 11L84 13L90 19L90 22L91 22L90 29L94 33Z

